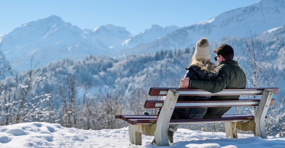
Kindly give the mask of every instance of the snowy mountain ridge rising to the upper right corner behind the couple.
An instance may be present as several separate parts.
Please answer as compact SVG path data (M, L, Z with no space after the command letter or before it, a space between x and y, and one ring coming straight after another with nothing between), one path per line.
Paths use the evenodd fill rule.
M208 21L181 28L149 44L126 49L126 53L143 53L191 47L202 37L210 42L224 37L247 37L285 24L285 1L263 0L251 6L222 13Z

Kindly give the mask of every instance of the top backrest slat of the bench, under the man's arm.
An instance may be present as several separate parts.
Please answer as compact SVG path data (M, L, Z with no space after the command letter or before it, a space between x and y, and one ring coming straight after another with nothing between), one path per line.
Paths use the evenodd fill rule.
M273 94L278 93L278 88L245 88L245 89L224 89L221 92L211 93L201 89L186 89L186 88L157 88L151 87L148 94L150 96L166 96L169 89L175 89L179 92L179 96L223 96L223 95L262 95L264 89L273 91Z

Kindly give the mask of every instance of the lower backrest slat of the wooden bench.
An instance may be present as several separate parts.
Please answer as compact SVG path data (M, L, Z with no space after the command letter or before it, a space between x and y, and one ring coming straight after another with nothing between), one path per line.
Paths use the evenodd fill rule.
M146 100L145 108L161 108L164 100ZM260 99L177 101L175 108L258 106ZM272 99L270 105L274 105Z

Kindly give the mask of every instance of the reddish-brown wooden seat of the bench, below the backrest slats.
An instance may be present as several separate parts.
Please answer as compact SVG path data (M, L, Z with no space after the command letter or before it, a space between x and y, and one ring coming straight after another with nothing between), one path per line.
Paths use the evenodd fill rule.
M232 122L232 121L247 121L254 118L251 114L235 114L223 115L221 118L203 118L203 119L170 119L169 123L204 123L204 122ZM130 124L153 124L156 123L157 117L146 116L145 118L132 118L130 115L126 116L127 122Z

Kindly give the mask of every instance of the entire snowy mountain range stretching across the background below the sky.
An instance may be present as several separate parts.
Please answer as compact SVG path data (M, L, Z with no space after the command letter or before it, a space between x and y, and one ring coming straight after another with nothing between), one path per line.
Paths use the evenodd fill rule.
M0 50L15 70L27 70L66 58L82 60L88 55L120 58L189 48L202 37L218 43L229 37L258 35L284 24L285 1L282 0L262 0L183 28L153 25L138 35L114 25L83 30L58 16L50 16L1 36Z

